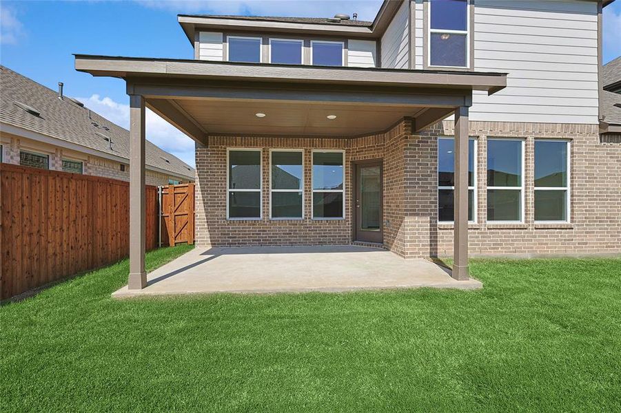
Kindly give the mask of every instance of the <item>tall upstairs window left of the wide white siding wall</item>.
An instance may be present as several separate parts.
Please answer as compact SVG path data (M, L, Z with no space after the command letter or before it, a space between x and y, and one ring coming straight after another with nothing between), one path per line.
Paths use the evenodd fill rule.
M468 67L467 0L431 0L429 7L429 66Z

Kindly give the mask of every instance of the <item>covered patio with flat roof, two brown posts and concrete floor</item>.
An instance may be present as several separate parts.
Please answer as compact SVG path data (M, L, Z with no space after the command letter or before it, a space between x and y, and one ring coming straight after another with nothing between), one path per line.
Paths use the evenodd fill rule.
M93 76L123 78L130 95L130 276L128 290L156 291L172 288L173 284L193 284L201 279L197 268L204 268L205 275L214 274L218 266L230 263L227 273L238 271L256 278L256 286L225 286L224 280L211 279L202 290L287 290L291 288L384 288L394 286L433 286L447 282L464 283L469 288L468 273L468 139L469 107L472 91L484 90L493 94L506 86L506 75L487 72L458 72L450 70L394 70L387 68L315 67L307 65L274 65L261 63L230 63L214 61L185 61L176 59L143 59L112 56L76 55L76 69ZM389 131L404 119L415 134L439 120L454 114L455 167L454 167L454 265L449 275L431 262L404 260L389 251L340 251L350 257L343 271L329 268L337 277L318 282L314 277L285 282L280 279L261 278L254 273L256 257L273 260L292 274L296 267L296 250L281 248L281 253L244 253L230 248L225 250L198 249L178 262L172 263L147 277L145 257L145 107L162 116L172 125L194 139L201 147L226 139L272 136L274 138L339 138L342 140L372 136ZM265 116L269 113L269 116ZM338 116L332 116L336 114ZM260 116L262 115L262 116ZM197 165L198 167L198 165ZM198 167L200 169L200 167ZM420 171L421 173L423 171ZM429 173L429 171L424 171ZM200 177L201 171L198 170ZM200 181L200 179L199 179ZM200 186L200 182L199 182ZM218 191L220 189L218 188ZM205 192L207 193L207 192ZM405 202L405 198L403 198ZM218 201L219 202L219 201ZM344 203L345 205L345 203ZM350 201L347 207L352 207ZM345 209L345 207L343 207ZM272 221L263 217L266 225ZM200 229L198 229L200 231ZM264 243L261 243L264 244ZM286 244L285 244L286 245ZM201 245L199 245L200 247ZM212 245L213 246L213 245ZM309 247L311 248L311 247ZM315 247L312 247L315 248ZM325 248L337 248L330 246ZM341 248L341 247L338 247ZM338 249L337 248L337 249ZM354 248L354 247L351 247ZM315 252L309 258L316 257ZM246 251L247 252L247 251ZM306 254L305 253L305 254ZM203 255L206 254L206 255ZM351 257L367 254L383 257L386 265L396 268L389 271L385 282L371 282L365 277L381 278L372 260L358 268L354 274ZM360 257L367 257L360 255ZM254 258L253 258L254 257ZM193 262L190 262L192 261ZM208 264L203 266L201 264ZM352 262L349 262L352 260ZM399 260L391 264L390 260ZM313 262L312 260L309 262ZM409 263L408 263L409 262ZM177 268L175 268L177 266ZM276 274L274 268L265 267L263 273ZM411 274L419 268L420 279L390 278L400 271ZM165 273L169 271L169 273ZM257 270L258 271L258 270ZM170 276L174 273L174 276ZM167 275L169 274L169 275ZM183 274L183 275L182 275ZM391 275L390 275L391 274ZM345 276L347 275L347 276ZM404 276L405 276L404 275ZM425 278L431 275L431 278ZM220 275L224 276L224 275ZM350 277L350 278L348 278ZM354 278L351 278L354 277ZM357 278L356 278L357 277ZM355 280L358 279L358 282ZM425 279L425 281L421 281ZM442 280L443 279L443 280ZM155 282L158 280L157 282ZM363 281L364 280L364 281ZM442 280L442 281L440 281ZM260 281L260 282L259 282ZM329 283L328 283L329 281ZM299 284L302 282L302 284ZM220 283L220 284L218 284ZM354 284L359 284L358 286ZM447 285L448 285L447 284ZM194 284L193 284L194 285ZM476 285L474 282L473 285ZM263 288L264 286L265 288ZM172 290L192 290L181 285Z

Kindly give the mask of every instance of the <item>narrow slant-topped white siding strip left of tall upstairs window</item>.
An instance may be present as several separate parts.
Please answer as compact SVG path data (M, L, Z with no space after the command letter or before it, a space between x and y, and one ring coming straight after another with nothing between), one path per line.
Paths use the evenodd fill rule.
M409 1L404 1L382 36L382 67L409 67Z

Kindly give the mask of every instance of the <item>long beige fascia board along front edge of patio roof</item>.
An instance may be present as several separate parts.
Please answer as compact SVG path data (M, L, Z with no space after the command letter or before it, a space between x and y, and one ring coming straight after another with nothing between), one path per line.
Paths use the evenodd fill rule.
M423 72L411 70L314 67L289 65L238 65L210 61L172 61L110 56L76 55L75 68L93 76L131 78L154 76L271 83L323 83L477 89L496 92L507 85L506 74L484 72Z

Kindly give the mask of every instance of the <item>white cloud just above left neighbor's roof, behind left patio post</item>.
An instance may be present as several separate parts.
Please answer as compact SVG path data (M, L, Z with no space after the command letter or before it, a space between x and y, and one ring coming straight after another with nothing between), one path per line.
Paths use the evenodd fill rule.
M129 129L130 105L115 102L109 97L102 98L98 94L94 94L90 98L77 99L112 123ZM194 167L194 140L160 118L151 109L147 108L145 121L148 140L180 158L187 165Z

